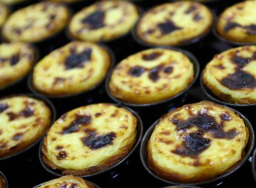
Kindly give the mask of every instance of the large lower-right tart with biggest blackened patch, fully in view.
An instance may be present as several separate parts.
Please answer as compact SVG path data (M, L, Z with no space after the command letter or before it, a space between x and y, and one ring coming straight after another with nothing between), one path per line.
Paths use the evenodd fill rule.
M203 182L240 162L248 137L233 110L208 101L187 104L155 126L147 146L149 166L174 182Z

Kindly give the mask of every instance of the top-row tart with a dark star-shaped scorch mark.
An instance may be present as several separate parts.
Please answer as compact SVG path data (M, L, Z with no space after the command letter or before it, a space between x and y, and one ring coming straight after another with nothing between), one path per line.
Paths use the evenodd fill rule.
M213 15L197 2L174 2L149 9L139 20L136 33L151 45L179 45L202 36L210 29Z

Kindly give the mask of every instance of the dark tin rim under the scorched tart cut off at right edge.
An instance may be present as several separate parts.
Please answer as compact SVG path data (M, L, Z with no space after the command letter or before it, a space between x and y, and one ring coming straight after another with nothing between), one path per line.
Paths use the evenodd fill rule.
M233 104L233 103L228 103L228 102L224 102L220 99L217 99L215 97L215 95L203 84L203 73L200 76L200 85L201 85L201 88L203 89L203 92L208 96L208 98L213 100L216 103L222 104L224 106L229 106L229 107L232 107L232 108L256 107L256 103L254 103L254 104Z

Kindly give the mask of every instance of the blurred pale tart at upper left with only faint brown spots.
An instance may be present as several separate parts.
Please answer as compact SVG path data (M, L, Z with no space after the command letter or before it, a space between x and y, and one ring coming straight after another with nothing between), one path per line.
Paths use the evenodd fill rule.
M61 4L41 2L14 12L3 26L8 41L40 42L61 31L69 11Z

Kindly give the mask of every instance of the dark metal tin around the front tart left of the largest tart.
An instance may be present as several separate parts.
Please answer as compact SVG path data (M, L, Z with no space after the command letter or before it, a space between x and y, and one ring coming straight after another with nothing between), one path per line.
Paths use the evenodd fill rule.
M136 119L137 119L137 127L136 127L136 129L137 129L137 135L136 135L135 144L134 144L133 148L131 149L131 151L129 151L129 153L128 153L125 157L123 157L119 162L117 162L116 164L112 165L111 167L108 167L108 168L106 168L106 169L104 169L104 170L102 170L102 171L100 171L100 172L92 173L92 174L89 174L89 175L79 175L78 177L81 177L81 178L92 178L92 177L101 175L101 174L103 174L103 173L105 173L105 172L108 172L108 171L114 169L115 167L118 167L118 166L121 165L123 162L125 162L125 161L128 159L128 157L130 157L130 155L133 154L133 152L134 152L134 151L136 150L136 148L139 146L139 143L140 143L140 141L141 141L141 139L142 139L142 136L143 136L143 123L142 123L142 120L141 120L141 118L139 117L139 115L138 115L134 110L132 110L132 109L126 107L126 106L123 106L123 105L121 105L121 104L113 104L113 103L109 103L109 104L115 105L115 106L117 106L117 107L119 107L119 108L124 108L124 109L126 109L126 110L129 110L129 111L132 112L132 114L136 117ZM42 153L42 151L41 151L41 148L42 148L42 145L43 145L43 140L44 140L44 139L42 139L42 141L41 141L41 143L40 143L39 151L38 151L39 161L40 161L41 165L43 166L43 168L44 168L46 171L50 172L51 174L53 174L53 175L55 175L55 176L58 176L58 177L64 176L64 175L61 173L60 170L58 170L58 169L57 169L57 170L54 170L54 169L52 169L51 167L49 167L47 164L45 164L45 163L43 162L43 153Z

